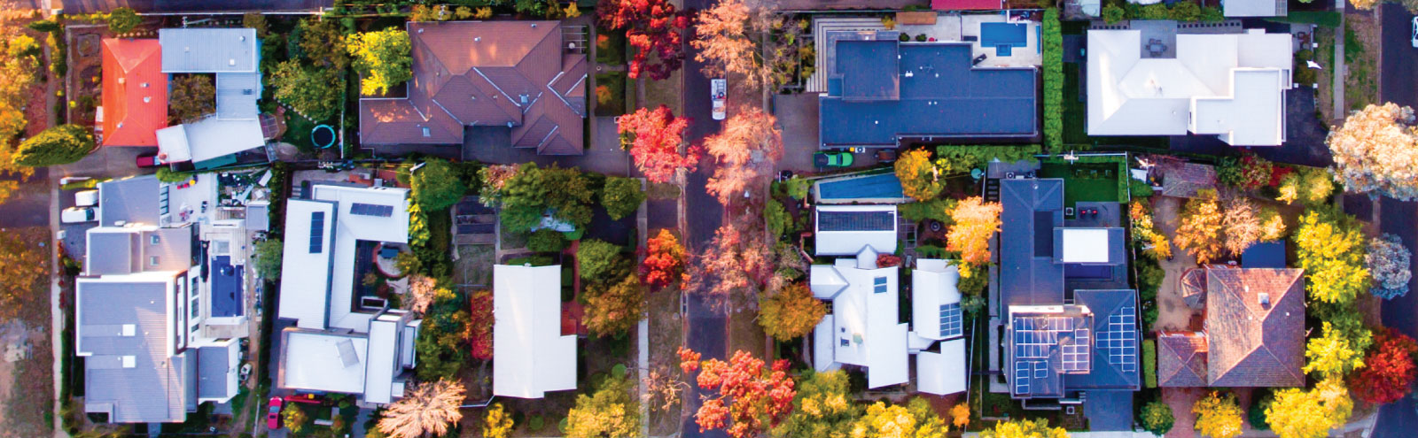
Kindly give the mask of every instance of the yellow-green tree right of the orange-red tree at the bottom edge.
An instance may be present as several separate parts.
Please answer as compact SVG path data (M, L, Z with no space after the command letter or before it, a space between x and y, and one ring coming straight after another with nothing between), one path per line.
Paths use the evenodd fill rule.
M773 438L849 438L862 408L852 403L847 371L805 371L798 378L793 412L770 431Z

